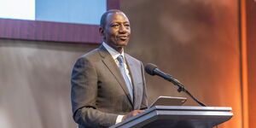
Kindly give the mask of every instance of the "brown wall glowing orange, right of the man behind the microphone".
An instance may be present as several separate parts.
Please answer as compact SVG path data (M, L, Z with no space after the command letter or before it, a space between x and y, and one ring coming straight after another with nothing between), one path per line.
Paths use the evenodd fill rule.
M208 106L232 107L235 116L219 127L241 127L238 3L140 0L122 1L121 9L131 20L131 55L170 73ZM151 102L184 96L164 79L146 77Z

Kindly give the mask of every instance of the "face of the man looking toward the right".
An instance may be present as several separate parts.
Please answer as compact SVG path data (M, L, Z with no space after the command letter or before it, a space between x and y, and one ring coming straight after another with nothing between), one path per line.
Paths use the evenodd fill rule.
M113 49L122 49L129 42L131 34L130 22L121 12L109 14L102 36ZM118 50L119 51L119 50Z

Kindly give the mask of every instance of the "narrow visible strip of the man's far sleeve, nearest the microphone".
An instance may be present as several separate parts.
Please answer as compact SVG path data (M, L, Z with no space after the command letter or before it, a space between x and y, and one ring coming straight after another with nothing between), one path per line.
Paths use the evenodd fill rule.
M148 94L147 94L146 80L145 80L145 74L144 74L144 67L142 62L141 62L141 67L142 67L142 77L143 77L143 102L141 104L140 109L146 109L148 108Z

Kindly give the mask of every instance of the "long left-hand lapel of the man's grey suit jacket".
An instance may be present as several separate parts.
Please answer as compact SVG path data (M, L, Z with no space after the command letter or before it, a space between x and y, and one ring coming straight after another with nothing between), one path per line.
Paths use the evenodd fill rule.
M123 75L119 70L119 67L116 65L115 61L113 61L112 56L108 53L108 50L105 49L103 45L99 47L99 53L100 55L102 55L103 63L106 65L106 67L108 67L109 71L113 74L115 79L117 79L122 89L125 91L125 95L128 96L128 99L132 105L133 103L131 102L131 96L129 94L129 90L125 84L125 79L123 78Z

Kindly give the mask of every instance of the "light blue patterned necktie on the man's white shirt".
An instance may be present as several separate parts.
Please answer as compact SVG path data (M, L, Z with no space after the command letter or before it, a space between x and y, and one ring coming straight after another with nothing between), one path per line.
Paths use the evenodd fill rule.
M124 59L122 55L119 55L117 57L117 60L119 61L119 69L123 75L123 78L125 79L125 84L129 90L130 96L131 96L131 101L133 102L133 93L132 93L132 84L130 79L128 78L127 74L125 73L125 64L124 64Z

